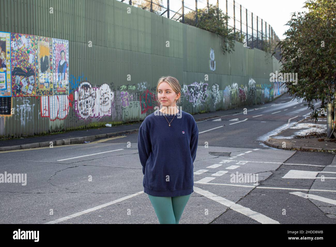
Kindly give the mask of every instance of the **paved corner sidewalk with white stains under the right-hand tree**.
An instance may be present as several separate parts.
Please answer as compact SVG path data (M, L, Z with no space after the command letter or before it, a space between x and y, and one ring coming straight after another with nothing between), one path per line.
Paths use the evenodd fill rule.
M326 117L319 117L319 121L316 123L314 120L306 118L272 136L264 143L278 149L336 152L336 141L326 137L326 130ZM309 134L311 132L314 134Z

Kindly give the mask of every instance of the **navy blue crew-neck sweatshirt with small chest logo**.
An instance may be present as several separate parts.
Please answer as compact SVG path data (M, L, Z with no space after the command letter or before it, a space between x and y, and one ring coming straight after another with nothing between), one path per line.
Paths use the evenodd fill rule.
M198 127L191 114L156 110L148 115L138 133L143 192L163 197L193 193L197 144Z

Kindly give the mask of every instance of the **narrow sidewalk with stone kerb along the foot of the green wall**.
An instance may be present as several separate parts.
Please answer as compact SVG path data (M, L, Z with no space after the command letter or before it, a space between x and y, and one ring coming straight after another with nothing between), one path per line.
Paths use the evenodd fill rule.
M247 110L252 110L256 108L262 108L265 106L271 106L274 104L279 104L284 102L282 97L288 97L288 94L284 94L283 96L275 99L274 101L265 104L253 105L240 107L236 109L230 109L225 111L216 111L202 114L194 114L194 119L196 121L202 121L205 119L220 117L229 114L240 113L243 111L243 108L247 108ZM182 109L183 110L183 109ZM118 136L128 133L135 133L139 130L142 121L133 122L129 124L121 124L118 126L112 127L101 127L101 128L90 128L84 130L74 130L67 131L63 133L55 133L41 136L30 136L30 137L21 137L21 138L13 138L13 139L3 139L0 140L0 152L1 151L11 151L11 150L19 150L19 149L30 149L30 148L42 148L49 147L50 142L53 142L53 146L60 145L70 145L70 144L78 144L91 142L101 138L107 138L112 136Z

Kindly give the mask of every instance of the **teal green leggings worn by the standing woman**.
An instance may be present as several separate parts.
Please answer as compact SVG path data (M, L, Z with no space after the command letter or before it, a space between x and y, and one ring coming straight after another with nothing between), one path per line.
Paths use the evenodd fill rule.
M178 224L191 194L173 197L148 196L160 224Z

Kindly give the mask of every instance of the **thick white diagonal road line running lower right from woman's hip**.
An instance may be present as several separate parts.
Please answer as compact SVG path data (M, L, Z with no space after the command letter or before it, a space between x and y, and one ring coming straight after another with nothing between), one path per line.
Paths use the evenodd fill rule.
M244 214L251 219L254 219L262 224L280 224L278 221L271 219L267 217L266 215L263 215L261 213L258 213L256 211L251 210L250 208L244 207L242 205L239 205L233 201L229 201L221 196L217 196L209 191L202 190L198 187L194 187L194 191L202 196L205 196L215 202L218 202L226 207L231 208L232 210L235 210L238 213Z

